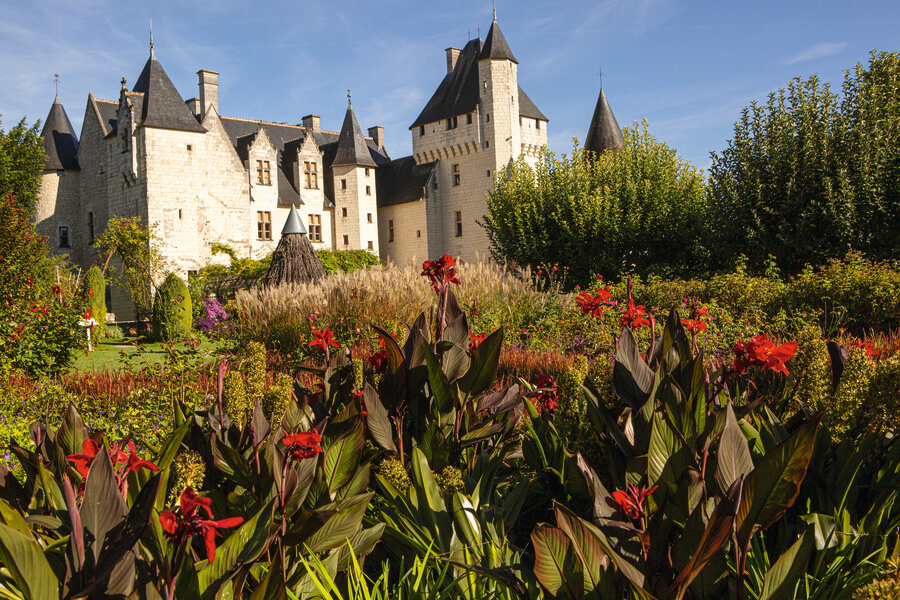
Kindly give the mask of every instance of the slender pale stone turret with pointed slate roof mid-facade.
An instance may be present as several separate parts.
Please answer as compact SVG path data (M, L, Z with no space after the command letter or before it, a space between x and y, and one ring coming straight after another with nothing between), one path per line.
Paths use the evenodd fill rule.
M375 161L356 121L349 91L347 113L331 171L334 178L335 249L370 250L378 254Z

